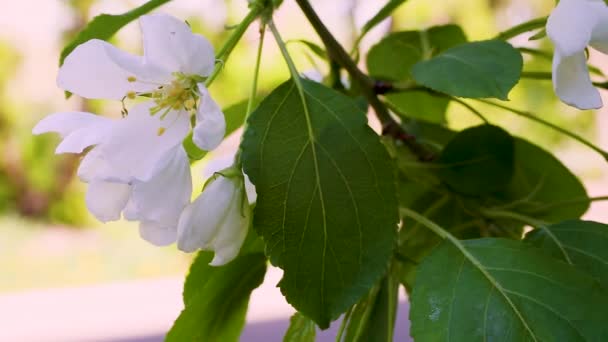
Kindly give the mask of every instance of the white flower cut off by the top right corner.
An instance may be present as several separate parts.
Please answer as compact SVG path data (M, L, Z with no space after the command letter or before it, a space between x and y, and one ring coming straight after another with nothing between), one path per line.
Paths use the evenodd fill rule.
M585 49L608 53L608 7L603 0L561 0L547 21L555 45L553 88L560 99L579 109L602 107L587 69Z

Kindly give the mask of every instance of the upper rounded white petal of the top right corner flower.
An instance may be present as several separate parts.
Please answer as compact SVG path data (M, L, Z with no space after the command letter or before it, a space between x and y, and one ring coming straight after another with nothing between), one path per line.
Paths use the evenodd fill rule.
M547 35L562 56L572 56L589 45L598 19L592 2L561 0L547 20Z

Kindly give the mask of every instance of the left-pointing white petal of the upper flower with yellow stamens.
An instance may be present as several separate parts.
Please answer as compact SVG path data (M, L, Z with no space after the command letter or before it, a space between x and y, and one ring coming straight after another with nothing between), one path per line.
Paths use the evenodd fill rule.
M125 69L126 66L132 69ZM92 39L68 55L59 69L57 85L85 98L120 100L130 91L148 92L157 87L140 82L140 79L150 77L150 72L143 73L144 70L141 57ZM129 82L130 77L138 81Z

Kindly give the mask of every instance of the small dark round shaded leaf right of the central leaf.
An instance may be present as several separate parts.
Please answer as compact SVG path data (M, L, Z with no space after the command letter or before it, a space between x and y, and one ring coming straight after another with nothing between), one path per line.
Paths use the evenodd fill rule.
M489 194L509 185L514 158L514 140L509 133L498 126L477 126L450 140L437 160L438 174L458 193Z

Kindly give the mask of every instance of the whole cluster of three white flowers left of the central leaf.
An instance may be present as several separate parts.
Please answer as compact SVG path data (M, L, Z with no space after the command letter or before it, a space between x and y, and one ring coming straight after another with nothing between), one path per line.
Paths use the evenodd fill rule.
M202 83L215 68L214 49L168 15L143 16L140 26L143 56L93 39L65 59L57 84L90 99L146 100L125 109L122 119L51 114L33 133L59 133L56 153L88 150L78 176L88 184L87 208L97 219L139 221L141 236L155 245L179 241L183 251L213 250L214 265L227 263L249 225L242 171L218 173L190 204L190 163L182 145L193 116L198 147L212 150L224 137L224 115Z

